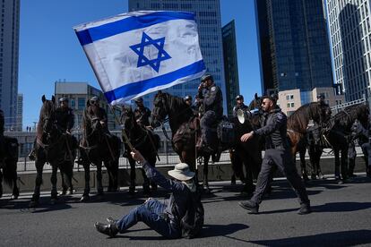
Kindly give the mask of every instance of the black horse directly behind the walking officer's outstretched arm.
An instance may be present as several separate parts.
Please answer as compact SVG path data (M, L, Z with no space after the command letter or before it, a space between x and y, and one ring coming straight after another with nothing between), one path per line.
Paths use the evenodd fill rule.
M250 102L247 110L260 109L261 97L255 94L255 98ZM261 113L261 112L260 112ZM240 180L245 183L243 193L252 194L255 190L254 180L260 172L260 166L262 165L262 139L254 138L251 141L241 142L240 138L246 132L251 132L260 127L259 123L260 114L246 115L246 120L241 124L237 117L231 119L235 125L235 146L229 150L229 158L231 161L233 176L237 175ZM244 173L243 166L245 166L246 175ZM235 180L232 177L232 181Z

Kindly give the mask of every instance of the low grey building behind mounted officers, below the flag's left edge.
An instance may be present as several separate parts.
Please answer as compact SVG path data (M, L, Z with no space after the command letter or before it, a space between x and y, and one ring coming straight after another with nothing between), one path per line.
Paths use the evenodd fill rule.
M121 110L115 106L115 115L108 106L108 102L101 90L89 85L87 82L71 82L71 81L56 81L55 82L55 96L57 102L59 98L68 98L68 106L73 109L74 126L73 130L79 132L82 127L82 114L86 103L93 96L100 98L100 106L104 108L108 115L108 129L110 131L120 130L120 124L116 122L115 115L120 117ZM59 103L58 103L59 104Z

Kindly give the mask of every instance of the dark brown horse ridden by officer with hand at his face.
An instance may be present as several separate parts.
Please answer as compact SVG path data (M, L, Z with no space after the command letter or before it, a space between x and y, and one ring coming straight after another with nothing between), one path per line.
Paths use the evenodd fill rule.
M195 148L196 138L201 135L199 118L194 117L194 111L183 98L161 91L155 95L153 105L151 126L159 127L168 116L168 124L172 132L171 144L174 151L181 162L188 164L192 171L196 171L196 158L205 157L203 161L208 161L210 158ZM204 162L203 185L206 186L207 191L210 191L208 173L208 162Z

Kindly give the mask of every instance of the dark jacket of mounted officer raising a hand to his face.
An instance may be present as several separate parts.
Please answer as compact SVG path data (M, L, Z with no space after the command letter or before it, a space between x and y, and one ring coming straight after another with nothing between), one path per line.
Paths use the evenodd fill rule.
M223 115L223 95L217 85L213 85L204 92L200 91L198 97L203 99L203 112L214 111L217 117Z

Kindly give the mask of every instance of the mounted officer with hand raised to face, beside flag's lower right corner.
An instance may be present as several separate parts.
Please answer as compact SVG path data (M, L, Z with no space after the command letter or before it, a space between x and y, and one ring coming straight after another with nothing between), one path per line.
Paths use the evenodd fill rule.
M202 100L203 115L200 120L201 141L197 143L197 148L212 153L214 150L211 148L211 127L223 115L223 96L220 87L214 83L210 74L205 74L201 78L198 97Z

